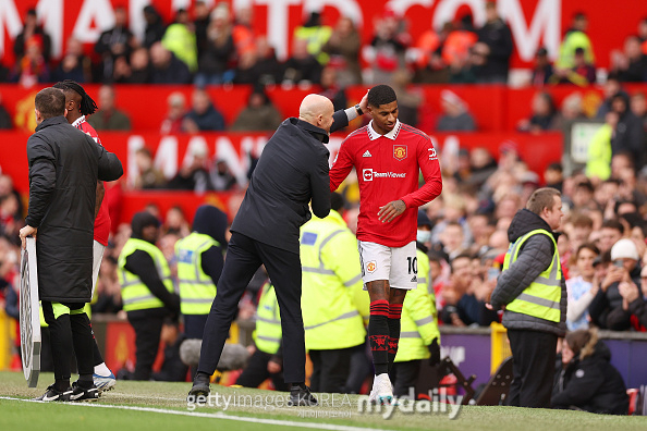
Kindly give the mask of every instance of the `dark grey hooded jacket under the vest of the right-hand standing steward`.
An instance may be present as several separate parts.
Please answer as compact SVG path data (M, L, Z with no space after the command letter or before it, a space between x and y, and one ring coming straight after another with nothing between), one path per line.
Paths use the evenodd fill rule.
M516 212L508 230L508 239L514 243L530 231L544 229L552 232L548 223L536 213L522 209ZM557 234L553 233L557 242ZM490 304L495 309L512 303L526 287L546 271L552 262L554 245L546 235L533 235L524 243L517 259L499 275ZM560 321L552 322L521 312L505 310L503 325L512 330L530 330L564 336L566 333L566 283L562 274L562 296L560 300Z

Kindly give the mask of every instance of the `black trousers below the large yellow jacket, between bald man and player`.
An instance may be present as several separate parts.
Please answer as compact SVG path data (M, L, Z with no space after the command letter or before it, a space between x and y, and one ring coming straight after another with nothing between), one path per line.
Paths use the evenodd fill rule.
M310 389L315 392L346 393L351 372L351 358L355 347L330 350L310 350L313 375Z

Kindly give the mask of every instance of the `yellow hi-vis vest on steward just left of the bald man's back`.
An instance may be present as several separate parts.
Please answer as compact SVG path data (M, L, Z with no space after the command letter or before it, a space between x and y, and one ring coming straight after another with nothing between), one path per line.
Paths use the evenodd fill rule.
M180 311L183 315L208 315L216 297L216 285L203 271L203 253L220 244L211 236L197 232L175 243Z

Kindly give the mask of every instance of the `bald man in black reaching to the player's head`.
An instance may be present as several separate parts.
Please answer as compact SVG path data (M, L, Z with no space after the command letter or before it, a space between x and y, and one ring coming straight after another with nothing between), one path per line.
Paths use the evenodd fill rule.
M324 96L306 96L298 118L285 120L267 143L249 187L231 226L218 295L203 335L198 372L188 401L209 394L209 377L216 370L229 328L245 286L260 264L277 290L283 333L283 369L291 383L293 405L316 405L305 386L305 342L301 315L300 226L313 212L330 211L328 135L349 124L366 109L366 97L355 108L332 112Z

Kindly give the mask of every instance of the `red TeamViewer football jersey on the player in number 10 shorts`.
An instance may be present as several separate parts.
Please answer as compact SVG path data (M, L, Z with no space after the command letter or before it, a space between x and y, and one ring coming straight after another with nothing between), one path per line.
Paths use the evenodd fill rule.
M330 189L335 190L355 167L359 181L357 238L402 247L416 239L418 207L440 195L442 178L434 145L425 133L398 121L379 135L373 121L342 143L330 169ZM418 173L425 185L418 188ZM390 223L378 220L380 207L402 199L406 210Z

